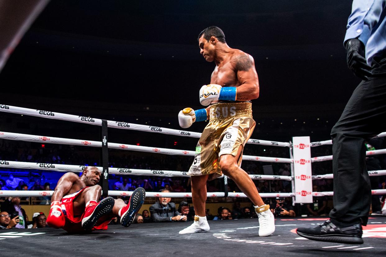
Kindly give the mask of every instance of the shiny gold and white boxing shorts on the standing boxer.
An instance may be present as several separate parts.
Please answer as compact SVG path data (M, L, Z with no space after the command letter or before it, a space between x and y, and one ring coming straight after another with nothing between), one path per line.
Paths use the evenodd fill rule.
M222 175L221 155L236 156L251 137L256 122L252 119L251 102L219 102L210 106L210 119L198 140L193 164L188 175L209 174L208 180ZM242 151L237 164L241 165Z

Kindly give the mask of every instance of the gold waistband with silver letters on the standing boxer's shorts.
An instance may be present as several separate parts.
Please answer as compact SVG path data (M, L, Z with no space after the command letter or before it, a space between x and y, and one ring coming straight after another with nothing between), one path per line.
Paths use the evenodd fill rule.
M251 102L219 102L210 106L210 121L225 121L235 117L251 117Z

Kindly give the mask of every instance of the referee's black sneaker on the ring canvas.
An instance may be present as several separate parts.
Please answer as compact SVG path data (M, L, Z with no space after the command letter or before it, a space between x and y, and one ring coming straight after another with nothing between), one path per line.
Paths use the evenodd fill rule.
M363 244L362 225L360 223L338 226L334 225L331 220L327 220L317 227L298 228L296 233L301 237L315 241L339 244Z

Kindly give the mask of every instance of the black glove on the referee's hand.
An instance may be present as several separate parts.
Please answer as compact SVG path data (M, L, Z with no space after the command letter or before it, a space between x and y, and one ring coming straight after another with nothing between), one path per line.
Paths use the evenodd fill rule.
M371 76L371 67L364 58L364 45L359 39L350 39L346 43L347 65L357 77L367 80Z

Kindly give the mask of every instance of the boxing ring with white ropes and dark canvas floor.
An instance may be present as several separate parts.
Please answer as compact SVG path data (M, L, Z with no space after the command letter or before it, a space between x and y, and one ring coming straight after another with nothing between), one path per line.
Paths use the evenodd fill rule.
M0 131L1 139L21 140L38 143L51 144L70 144L85 147L98 147L102 149L102 190L103 195L109 196L130 196L130 191L114 191L108 190L108 175L146 175L146 176L179 176L189 177L186 171L171 171L171 170L145 170L132 168L108 167L108 149L120 149L130 151L141 151L154 154L164 155L180 155L180 156L194 156L195 151L167 149L159 147L137 146L122 143L112 143L108 141L107 128L117 129L131 129L136 131L146 131L150 133L163 133L170 135L186 136L199 138L200 133L183 131L176 129L161 128L156 126L146 126L140 124L132 124L117 121L107 121L102 119L95 119L84 116L75 116L63 113L54 113L51 111L34 110L27 108L20 108L15 106L0 105L0 111L14 114L23 114L35 116L40 118L59 119L70 122L84 123L95 126L101 126L102 136L100 141L91 141L86 139L68 139L56 138L51 136L20 134ZM381 133L378 136L386 136L386 133ZM259 139L249 139L248 144L259 144L266 146L285 147L289 150L291 158L276 158L263 156L248 156L244 155L243 160L262 161L269 163L289 163L291 165L291 176L273 176L273 175L249 175L252 180L286 180L292 183L292 192L290 193L261 193L263 198L274 197L294 197L294 171L291 149L293 147L291 142L276 142L265 141ZM330 141L321 141L311 143L311 147L331 144ZM366 155L378 155L386 153L386 149L379 149L375 151L367 151ZM332 156L318 156L313 157L312 162L332 160ZM60 172L81 172L86 166L83 165L64 165L54 163L32 163L0 160L0 167L3 168L22 168L46 171L60 171ZM386 170L369 171L370 176L386 175ZM332 178L332 174L313 176L312 180ZM235 197L245 198L244 193L228 192L227 191L227 177L222 176L218 179L223 180L224 191L208 192L208 197ZM311 180L310 180L311 181ZM0 190L1 197L41 197L51 196L53 191L12 191ZM312 192L315 197L332 195L333 192ZM386 194L386 190L372 190L372 194L381 195ZM146 192L146 197L191 197L191 193L160 193L160 192ZM10 242L14 238L22 241L18 248L11 245L3 244L2 247L7 250L9 255L18 254L20 250L28 251L31 256L41 256L41 254L54 255L60 249L61 254L76 254L92 255L92 256L106 256L111 254L112 249L122 249L130 253L130 255L145 255L145 256L164 256L165 254L183 254L193 256L202 254L205 251L208 255L233 256L235 249L237 253L244 255L252 255L256 250L276 250L278 254L285 255L299 255L303 254L323 254L336 255L337 252L342 255L352 256L353 252L362 252L363 254L383 255L386 252L386 245L380 243L386 238L386 217L369 218L369 224L364 227L365 244L361 246L339 245L325 242L315 242L299 237L295 233L295 228L302 226L312 226L322 223L327 220L327 217L317 218L276 218L276 231L270 237L258 237L257 228L259 224L257 219L243 219L243 220L221 220L209 221L211 230L207 233L185 234L179 235L178 231L187 226L187 223L146 223L146 224L132 224L129 228L124 228L120 225L109 225L109 229L105 231L97 231L88 234L71 235L64 230L55 230L53 228L42 228L39 230L12 230L12 232L0 231L0 240L2 243ZM31 232L32 231L32 232ZM82 241L79 241L82 240ZM186 244L192 242L194 244ZM79 242L82 242L79 244ZM130 244L131 243L131 244ZM70 248L63 247L70 245ZM160 251L165 249L165 246L174 246L176 244L183 245L179 247L166 247L168 252ZM215 244L215 247L213 247ZM191 247L193 245L193 247ZM107 246L111 246L107 247ZM185 247L184 247L185 246ZM198 247L198 248L197 248ZM31 250L33 249L33 250ZM165 249L166 250L166 249ZM316 251L316 252L315 252ZM255 255L255 254L253 254Z

